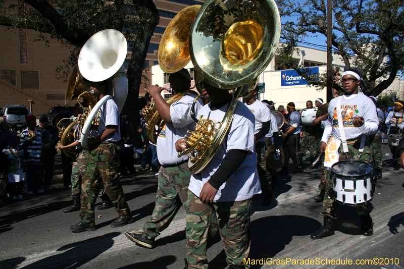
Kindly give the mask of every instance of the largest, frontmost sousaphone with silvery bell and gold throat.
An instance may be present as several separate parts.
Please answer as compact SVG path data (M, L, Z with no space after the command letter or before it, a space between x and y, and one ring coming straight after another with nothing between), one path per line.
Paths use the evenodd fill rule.
M280 29L273 0L208 0L200 9L189 33L195 70L214 87L237 90L216 131L211 121L199 121L199 128L187 136L179 156L190 154L192 174L213 158L230 128L242 86L257 78L274 57Z

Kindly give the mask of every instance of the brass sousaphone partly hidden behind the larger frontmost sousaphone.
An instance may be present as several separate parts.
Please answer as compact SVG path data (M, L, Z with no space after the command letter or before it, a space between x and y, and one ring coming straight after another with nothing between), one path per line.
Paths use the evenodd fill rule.
M160 68L165 73L178 72L191 60L188 49L188 36L192 22L200 7L200 5L194 5L181 10L164 31L160 41L158 58ZM196 83L195 79L196 84L198 83ZM173 104L188 94L198 95L196 92L188 90L170 97L167 103ZM144 111L143 115L147 125L147 138L151 144L156 145L157 137L164 126L164 121L154 105Z

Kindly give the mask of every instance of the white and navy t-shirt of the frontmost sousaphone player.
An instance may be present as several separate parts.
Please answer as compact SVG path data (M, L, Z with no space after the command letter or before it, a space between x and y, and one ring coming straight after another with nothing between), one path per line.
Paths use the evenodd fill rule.
M199 111L198 119L209 119L215 123L221 122L228 104L214 111L211 110L210 105L210 103L205 105ZM199 197L204 184L215 174L226 152L230 149L241 149L248 151L247 156L233 175L220 186L214 201L243 201L257 193L261 193L257 171L257 155L255 152L254 122L254 115L251 114L242 102L238 101L228 133L209 164L200 173L192 175L191 182L189 183L190 191ZM216 124L216 129L218 127L219 125Z

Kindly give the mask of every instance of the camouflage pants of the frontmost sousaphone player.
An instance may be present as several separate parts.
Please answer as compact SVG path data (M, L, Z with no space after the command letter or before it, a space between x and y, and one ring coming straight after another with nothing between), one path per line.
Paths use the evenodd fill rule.
M244 201L202 203L191 191L186 209L186 259L188 268L207 269L206 250L212 214L219 221L227 264L243 265L250 250L252 198Z

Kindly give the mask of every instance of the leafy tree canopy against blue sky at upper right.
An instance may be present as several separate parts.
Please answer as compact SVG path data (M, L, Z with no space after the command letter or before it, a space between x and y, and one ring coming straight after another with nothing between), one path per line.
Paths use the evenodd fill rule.
M277 5L282 17L281 42L287 46L278 50L278 65L289 65L299 73L301 67L288 58L292 58L291 52L305 37L327 37L327 28L319 25L320 20L327 21L326 3L324 0L279 0ZM363 73L367 85L363 92L368 96L377 96L394 81L396 75L404 72L402 0L333 0L332 5L333 21L336 19L332 33L333 52L341 57L347 69L356 68ZM334 72L334 81L336 75ZM320 76L310 82L322 89L326 80ZM342 90L335 82L333 88Z

